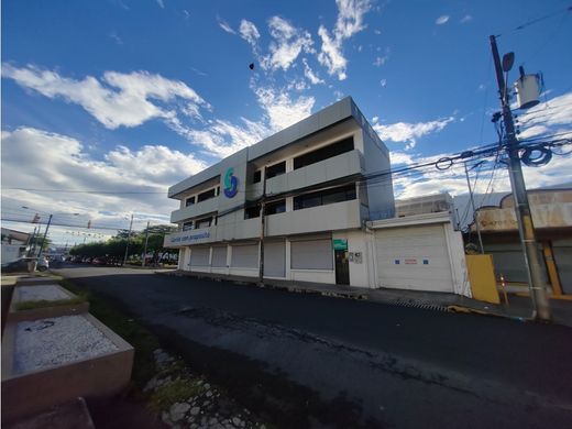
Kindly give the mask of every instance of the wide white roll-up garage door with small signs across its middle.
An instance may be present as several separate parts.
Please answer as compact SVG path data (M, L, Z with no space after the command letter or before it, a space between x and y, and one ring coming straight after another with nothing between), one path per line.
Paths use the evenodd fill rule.
M441 224L375 231L377 285L452 293L453 275Z

